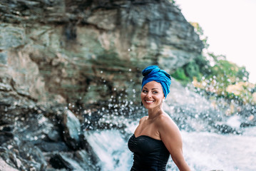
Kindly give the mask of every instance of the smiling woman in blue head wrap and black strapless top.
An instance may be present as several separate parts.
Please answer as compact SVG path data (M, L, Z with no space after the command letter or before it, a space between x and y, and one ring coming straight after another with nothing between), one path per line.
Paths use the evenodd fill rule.
M141 102L148 109L148 116L140 119L128 141L133 152L131 171L165 170L171 155L179 170L190 168L183 157L180 130L163 111L163 100L170 92L170 75L158 66L148 66L142 72Z

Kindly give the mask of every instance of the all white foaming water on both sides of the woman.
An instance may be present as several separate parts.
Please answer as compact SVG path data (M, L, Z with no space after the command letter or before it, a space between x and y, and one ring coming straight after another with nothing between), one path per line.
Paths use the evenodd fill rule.
M134 128L133 124L128 132ZM247 128L247 135L243 136L181 131L185 160L192 171L256 170L256 136L250 135L255 130L256 128ZM101 159L103 171L130 170L133 155L127 147L128 136L123 135L120 130L89 131L85 135ZM167 171L178 171L171 158Z

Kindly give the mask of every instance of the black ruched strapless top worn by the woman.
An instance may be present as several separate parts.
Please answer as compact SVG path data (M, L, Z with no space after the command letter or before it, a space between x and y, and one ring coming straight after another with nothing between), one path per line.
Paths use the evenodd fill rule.
M162 140L133 134L128 147L133 152L133 167L130 171L165 171L170 153Z

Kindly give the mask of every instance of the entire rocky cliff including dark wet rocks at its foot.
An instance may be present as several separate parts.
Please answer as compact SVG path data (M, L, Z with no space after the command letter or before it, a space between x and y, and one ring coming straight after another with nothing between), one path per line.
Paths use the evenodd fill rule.
M0 165L19 170L100 170L82 132L123 128L140 71L203 48L164 0L2 0L0 20Z

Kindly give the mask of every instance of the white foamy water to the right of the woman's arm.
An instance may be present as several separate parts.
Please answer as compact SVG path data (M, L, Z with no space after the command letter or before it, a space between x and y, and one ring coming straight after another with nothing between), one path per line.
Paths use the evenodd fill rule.
M255 136L185 131L182 136L185 157L193 170L256 170Z

